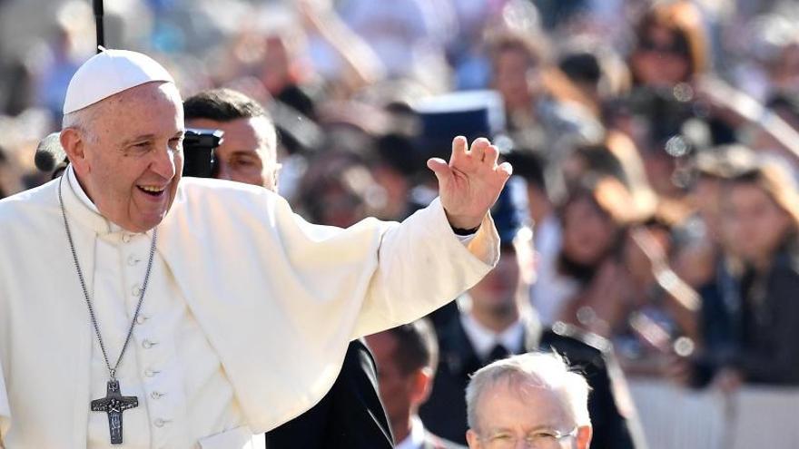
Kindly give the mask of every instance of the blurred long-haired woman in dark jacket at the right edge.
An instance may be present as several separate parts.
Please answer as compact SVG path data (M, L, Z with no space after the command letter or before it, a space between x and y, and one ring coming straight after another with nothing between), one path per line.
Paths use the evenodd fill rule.
M714 384L799 386L799 189L779 161L757 161L722 195L723 240L741 262L731 339L715 356ZM714 360L715 359L715 360Z

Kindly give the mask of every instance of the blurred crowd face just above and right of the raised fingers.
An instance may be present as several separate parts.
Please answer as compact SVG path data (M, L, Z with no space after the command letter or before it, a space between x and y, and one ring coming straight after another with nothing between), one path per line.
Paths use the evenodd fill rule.
M494 88L510 111L528 109L538 74L537 64L520 49L501 51L494 62Z

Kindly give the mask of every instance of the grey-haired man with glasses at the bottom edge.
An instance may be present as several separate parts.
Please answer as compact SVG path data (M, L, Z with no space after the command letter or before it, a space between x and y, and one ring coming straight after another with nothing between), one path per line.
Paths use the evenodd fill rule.
M466 389L470 449L587 449L588 384L561 356L528 353L478 370Z

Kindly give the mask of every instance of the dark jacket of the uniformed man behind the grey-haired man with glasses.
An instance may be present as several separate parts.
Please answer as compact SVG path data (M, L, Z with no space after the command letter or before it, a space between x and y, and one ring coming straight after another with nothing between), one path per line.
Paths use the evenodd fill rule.
M591 387L588 412L594 427L591 449L643 447L643 444L636 444L636 441L643 442L642 435L632 431L638 427L631 426L626 417L632 415L632 407L625 406L629 398L614 395L614 382L623 385L623 378L607 340L562 323L543 332L535 324L526 330L523 345L526 351L554 349L587 377ZM432 394L419 411L430 432L466 443L464 393L469 375L482 366L459 318L449 320L439 329L439 369Z

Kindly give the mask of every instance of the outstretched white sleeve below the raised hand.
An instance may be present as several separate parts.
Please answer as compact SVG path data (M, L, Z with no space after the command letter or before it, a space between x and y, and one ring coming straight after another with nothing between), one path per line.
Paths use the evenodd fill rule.
M475 234L459 236L434 200L383 234L379 264L352 337L424 317L471 288L498 258L499 238L490 215Z

